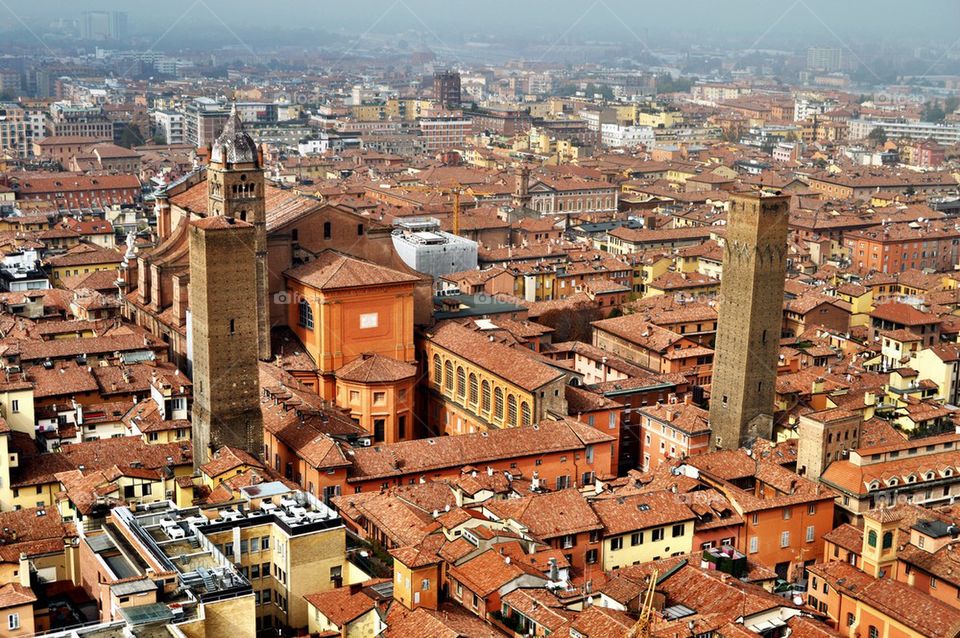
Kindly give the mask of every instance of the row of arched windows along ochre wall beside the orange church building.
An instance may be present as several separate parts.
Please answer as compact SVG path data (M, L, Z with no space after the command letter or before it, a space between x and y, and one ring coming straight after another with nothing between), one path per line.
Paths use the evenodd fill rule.
M468 375L463 366L454 369L453 362L449 359L444 361L439 354L433 355L433 382L436 387L442 387L447 393L454 395L458 403L485 418L503 421L509 426L530 425L533 421L529 401L519 401L512 393L505 395L500 387L491 390L489 381L481 381L473 372Z

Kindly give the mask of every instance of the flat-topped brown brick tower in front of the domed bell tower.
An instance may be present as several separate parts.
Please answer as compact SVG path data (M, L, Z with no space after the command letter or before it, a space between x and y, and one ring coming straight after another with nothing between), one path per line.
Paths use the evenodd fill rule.
M215 215L190 225L193 455L263 453L257 358L256 227Z

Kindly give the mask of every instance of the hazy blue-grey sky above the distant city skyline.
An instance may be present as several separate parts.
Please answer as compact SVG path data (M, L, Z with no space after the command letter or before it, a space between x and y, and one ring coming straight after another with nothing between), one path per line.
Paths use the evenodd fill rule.
M127 11L134 34L208 29L212 39L231 30L314 28L357 34L416 29L440 39L489 33L654 41L702 32L742 38L744 48L758 39L757 46L776 48L779 38L796 36L838 45L910 40L960 46L960 0L4 0L0 30L4 23L16 26L8 22L10 11L34 25L75 18L84 9Z

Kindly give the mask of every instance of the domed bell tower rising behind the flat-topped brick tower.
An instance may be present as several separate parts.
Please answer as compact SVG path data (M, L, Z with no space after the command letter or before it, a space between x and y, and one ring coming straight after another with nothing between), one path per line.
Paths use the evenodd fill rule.
M210 150L207 167L208 215L223 215L253 225L257 268L257 352L270 359L270 306L267 281L267 212L263 167L253 139L243 130L236 107Z

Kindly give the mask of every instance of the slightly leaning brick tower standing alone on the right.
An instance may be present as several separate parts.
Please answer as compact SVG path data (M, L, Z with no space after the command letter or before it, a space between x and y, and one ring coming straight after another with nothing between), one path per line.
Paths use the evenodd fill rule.
M731 201L710 394L715 448L773 435L789 202L758 194Z

